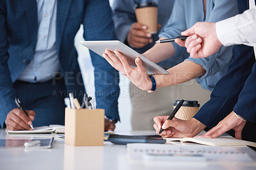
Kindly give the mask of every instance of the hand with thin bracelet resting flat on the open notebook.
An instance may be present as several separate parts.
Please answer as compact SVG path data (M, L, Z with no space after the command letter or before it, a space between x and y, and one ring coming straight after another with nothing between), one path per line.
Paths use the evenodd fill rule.
M229 131L230 129L234 129L236 138L242 139L242 131L245 124L246 121L237 118L235 112L232 111L229 115L227 115L227 117L221 120L218 125L213 127L210 131L206 132L202 136L198 137L216 138L218 136L221 136L221 134Z

